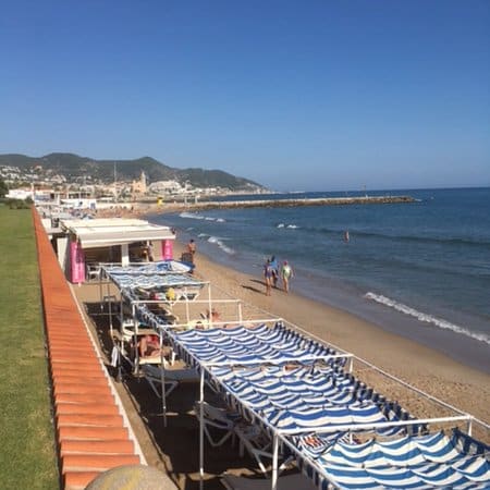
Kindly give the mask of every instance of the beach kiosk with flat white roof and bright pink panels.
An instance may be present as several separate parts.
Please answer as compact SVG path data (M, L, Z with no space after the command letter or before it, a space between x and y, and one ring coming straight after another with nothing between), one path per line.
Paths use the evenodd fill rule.
M139 219L70 219L60 225L64 235L58 237L58 259L72 283L96 279L100 262L169 259L175 240L169 226Z

